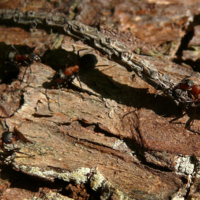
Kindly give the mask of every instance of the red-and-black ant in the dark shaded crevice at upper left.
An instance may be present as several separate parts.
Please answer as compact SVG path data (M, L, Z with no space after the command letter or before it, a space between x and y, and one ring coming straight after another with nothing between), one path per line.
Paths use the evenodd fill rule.
M14 49L14 51L10 51L7 55L7 59L9 60L10 63L14 63L17 65L25 63L27 66L30 66L34 62L41 62L40 55L37 55L34 52L30 54L20 54L13 45L11 45L11 47ZM30 71L32 73L31 67Z

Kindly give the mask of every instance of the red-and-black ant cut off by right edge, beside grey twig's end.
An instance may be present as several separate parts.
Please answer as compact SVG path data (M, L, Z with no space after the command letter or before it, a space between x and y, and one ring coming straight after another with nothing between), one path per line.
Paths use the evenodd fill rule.
M172 121L175 121L176 119L179 119L183 117L185 114L191 115L191 108L193 108L193 115L190 117L190 119L186 122L185 128L188 129L191 126L191 123L193 123L194 118L196 116L196 109L200 106L200 85L195 85L194 82L191 79L188 79L188 77L184 78L180 83L178 83L174 87L174 91L176 94L181 94L182 92L186 93L186 97L189 97L189 99L183 99L182 103L184 105L184 109L186 112L182 114L180 117L177 117ZM178 96L179 96L178 95Z

